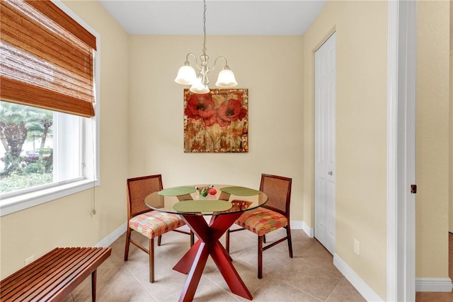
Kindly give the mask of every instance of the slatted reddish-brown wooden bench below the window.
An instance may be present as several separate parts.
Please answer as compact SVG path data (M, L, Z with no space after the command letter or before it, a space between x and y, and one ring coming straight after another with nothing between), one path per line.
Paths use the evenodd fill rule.
M91 274L96 301L96 269L111 248L55 248L0 281L0 301L62 301Z

